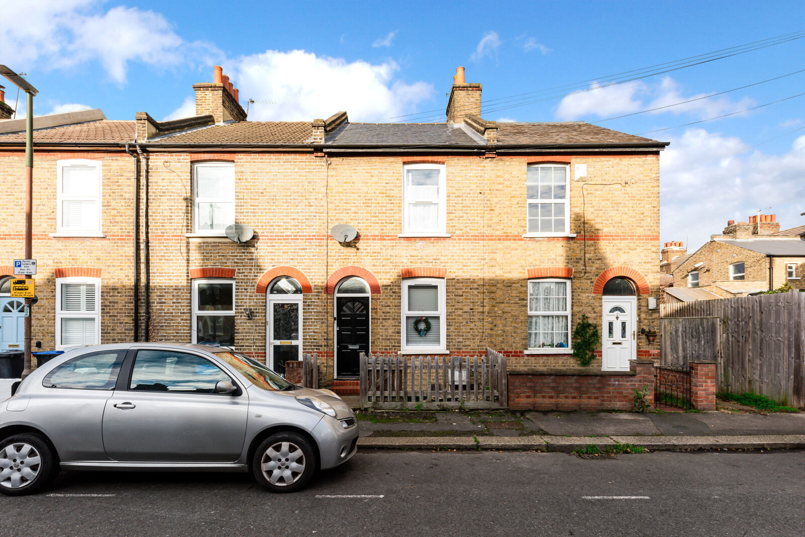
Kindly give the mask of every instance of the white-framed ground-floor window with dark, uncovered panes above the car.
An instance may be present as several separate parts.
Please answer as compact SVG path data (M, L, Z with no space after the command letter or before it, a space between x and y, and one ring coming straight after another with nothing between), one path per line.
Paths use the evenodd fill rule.
M193 280L194 343L235 344L235 281Z

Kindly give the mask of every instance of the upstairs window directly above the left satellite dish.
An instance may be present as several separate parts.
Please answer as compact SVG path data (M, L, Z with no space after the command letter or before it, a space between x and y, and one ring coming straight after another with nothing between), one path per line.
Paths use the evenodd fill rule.
M193 232L222 234L235 223L235 165L204 162L193 166Z

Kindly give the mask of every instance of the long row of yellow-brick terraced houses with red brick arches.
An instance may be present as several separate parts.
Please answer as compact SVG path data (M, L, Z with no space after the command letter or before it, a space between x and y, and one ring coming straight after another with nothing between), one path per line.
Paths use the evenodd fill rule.
M593 368L658 356L640 334L659 327L647 299L659 296L666 143L489 121L463 68L440 123L248 121L214 75L194 86L194 117L36 118L42 349L219 343L277 371L316 352L325 384L354 379L369 350L492 347L511 369L550 370L578 367L572 331L586 314L601 327ZM23 252L18 123L0 121L0 277ZM233 242L233 223L254 237Z

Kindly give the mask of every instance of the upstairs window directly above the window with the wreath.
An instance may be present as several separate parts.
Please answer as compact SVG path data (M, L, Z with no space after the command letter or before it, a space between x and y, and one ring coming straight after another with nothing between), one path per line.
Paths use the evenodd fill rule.
M444 164L403 167L403 233L447 233Z

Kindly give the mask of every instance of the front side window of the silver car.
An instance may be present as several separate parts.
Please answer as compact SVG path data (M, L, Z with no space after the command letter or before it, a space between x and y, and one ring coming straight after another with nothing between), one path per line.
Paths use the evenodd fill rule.
M232 381L212 362L172 350L138 350L130 390L215 393L220 380Z

